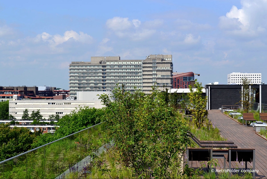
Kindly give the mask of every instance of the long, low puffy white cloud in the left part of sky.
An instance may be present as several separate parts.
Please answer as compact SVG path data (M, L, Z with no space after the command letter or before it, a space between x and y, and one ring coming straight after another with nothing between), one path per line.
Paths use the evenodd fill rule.
M73 39L74 41L78 41L81 43L92 43L93 38L90 35L87 35L86 33L80 32L78 34L75 31L66 31L63 36L56 34L56 35L50 35L49 33L43 32L42 34L37 35L36 41L45 41L49 42L52 46L57 46L59 44L62 44L69 39Z

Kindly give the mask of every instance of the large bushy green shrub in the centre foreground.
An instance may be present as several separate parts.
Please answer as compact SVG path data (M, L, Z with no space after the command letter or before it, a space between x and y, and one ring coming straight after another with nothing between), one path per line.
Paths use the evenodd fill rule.
M111 101L107 94L100 99L106 111L107 136L116 144L124 165L132 166L136 178L174 178L189 130L176 118L176 110L166 102L166 94L153 87L151 94L133 94L116 89Z

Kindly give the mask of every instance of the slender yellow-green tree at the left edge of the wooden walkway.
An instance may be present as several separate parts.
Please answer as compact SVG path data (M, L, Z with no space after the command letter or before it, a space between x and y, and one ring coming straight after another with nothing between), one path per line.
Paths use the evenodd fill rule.
M192 119L198 128L203 126L203 122L207 119L208 112L206 110L207 97L202 95L202 83L199 83L195 79L194 90L191 85L189 85L190 93L187 94L189 97L189 102L187 103L187 108L190 110Z

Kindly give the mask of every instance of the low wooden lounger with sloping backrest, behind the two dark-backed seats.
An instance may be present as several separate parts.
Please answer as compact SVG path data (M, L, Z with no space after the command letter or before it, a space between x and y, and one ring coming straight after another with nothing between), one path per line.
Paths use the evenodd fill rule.
M203 148L237 148L231 140L199 140L191 132L188 132L189 136L198 144L199 147Z

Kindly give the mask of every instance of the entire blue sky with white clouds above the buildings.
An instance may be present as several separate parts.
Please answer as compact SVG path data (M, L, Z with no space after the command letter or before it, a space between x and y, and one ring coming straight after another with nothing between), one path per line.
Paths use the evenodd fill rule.
M68 89L91 56L172 55L204 86L232 72L267 82L266 0L1 1L0 86Z

